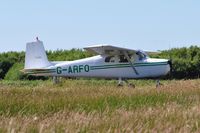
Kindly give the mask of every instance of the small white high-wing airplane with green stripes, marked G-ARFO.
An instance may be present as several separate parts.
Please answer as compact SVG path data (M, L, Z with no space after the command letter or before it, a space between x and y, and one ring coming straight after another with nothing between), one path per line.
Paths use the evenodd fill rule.
M74 61L49 61L43 42L38 38L26 44L25 66L28 75L58 77L89 77L119 79L155 78L167 75L171 70L168 59L150 58L141 50L96 45L84 48L96 56Z

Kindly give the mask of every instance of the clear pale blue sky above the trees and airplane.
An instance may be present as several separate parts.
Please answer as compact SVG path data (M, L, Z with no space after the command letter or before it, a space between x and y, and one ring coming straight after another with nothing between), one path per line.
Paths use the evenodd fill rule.
M142 50L200 46L199 0L0 0L0 52L111 44Z

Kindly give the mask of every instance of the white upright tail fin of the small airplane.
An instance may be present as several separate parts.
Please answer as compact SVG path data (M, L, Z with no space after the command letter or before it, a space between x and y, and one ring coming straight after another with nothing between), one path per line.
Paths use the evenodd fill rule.
M37 39L26 44L24 69L42 69L50 65L42 41Z

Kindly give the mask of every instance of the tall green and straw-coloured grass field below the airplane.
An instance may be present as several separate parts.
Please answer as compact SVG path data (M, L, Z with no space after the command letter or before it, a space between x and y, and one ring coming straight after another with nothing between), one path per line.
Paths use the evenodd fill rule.
M0 81L0 132L200 132L200 80Z

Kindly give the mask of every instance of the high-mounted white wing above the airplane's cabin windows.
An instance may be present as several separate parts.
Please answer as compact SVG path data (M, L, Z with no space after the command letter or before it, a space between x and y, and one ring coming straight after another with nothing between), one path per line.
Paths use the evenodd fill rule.
M137 52L137 50L121 48L112 45L96 45L96 46L85 47L84 49L91 53L100 55L124 55L124 52L127 52L127 54L132 55Z

